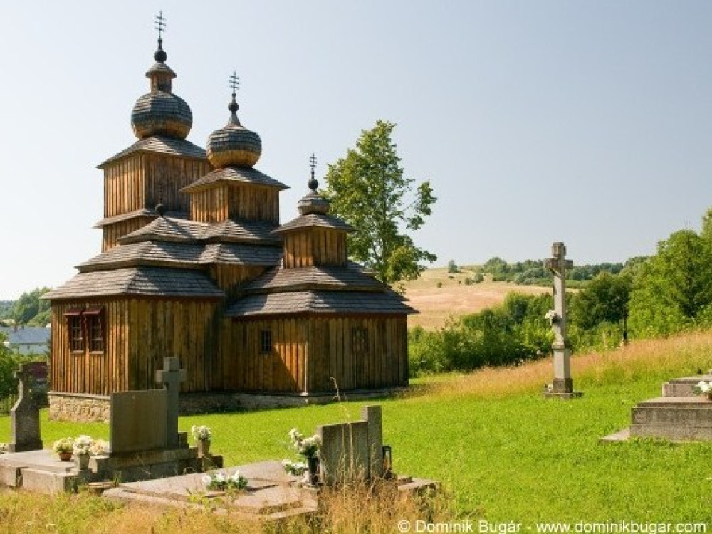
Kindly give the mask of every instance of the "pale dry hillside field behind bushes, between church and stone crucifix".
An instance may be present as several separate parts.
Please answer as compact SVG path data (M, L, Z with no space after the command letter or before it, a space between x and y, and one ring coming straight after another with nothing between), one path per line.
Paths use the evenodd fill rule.
M409 328L414 326L422 326L426 330L441 328L451 317L477 313L501 304L509 293L541 295L550 292L549 288L518 286L515 283L492 282L488 279L466 286L465 278L472 277L473 274L466 268L453 275L449 275L446 268L434 268L424 271L417 280L404 283L409 305L420 312L408 318ZM453 278L448 278L449 276ZM439 288L438 283L442 283L442 287Z

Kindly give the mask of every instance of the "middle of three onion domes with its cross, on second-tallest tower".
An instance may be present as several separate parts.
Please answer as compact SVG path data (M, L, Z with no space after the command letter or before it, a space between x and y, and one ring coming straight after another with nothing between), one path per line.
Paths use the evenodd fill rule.
M213 167L221 169L231 165L253 167L262 153L262 140L255 132L240 124L237 118L239 105L235 101L237 77L232 75L232 102L228 106L230 119L225 127L215 130L208 137L208 160Z

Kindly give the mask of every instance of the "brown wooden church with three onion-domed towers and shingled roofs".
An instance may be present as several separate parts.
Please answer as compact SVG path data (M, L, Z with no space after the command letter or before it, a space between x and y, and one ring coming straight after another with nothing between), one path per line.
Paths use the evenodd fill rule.
M351 229L318 194L315 161L300 216L280 225L287 186L254 167L261 139L238 119L236 78L203 150L186 139L192 113L160 34L154 58L131 115L138 140L99 165L102 251L46 297L51 417L105 419L112 392L158 387L165 356L186 370L194 412L407 385L414 310L347 260Z

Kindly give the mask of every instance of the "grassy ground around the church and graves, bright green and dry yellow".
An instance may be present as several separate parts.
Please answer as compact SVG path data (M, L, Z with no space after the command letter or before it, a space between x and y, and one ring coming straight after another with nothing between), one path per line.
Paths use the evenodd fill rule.
M634 440L602 445L598 441L627 426L630 409L639 400L659 396L661 382L711 367L712 333L693 333L574 357L575 385L585 395L570 402L540 395L550 380L548 360L469 375L426 377L415 381L402 396L379 401L384 443L393 447L395 471L441 482L437 506L439 517L447 520L515 521L524 528L535 528L538 522L581 520L712 526L712 444ZM288 458L287 432L293 426L310 433L317 424L357 419L361 405L346 399L326 406L182 417L180 426L184 430L192 424L211 426L213 449L224 455L226 464L243 464ZM49 422L46 414L43 417L46 446L53 439L80 433L108 437L105 424ZM0 441L7 441L8 434L9 420L0 418ZM368 501L360 496L357 508L373 513L368 506L364 508L364 498ZM146 509L127 513L123 507L94 498L77 499L1 492L0 532L5 525L17 525L14 517L28 517L23 513L39 523L69 525L68 530L53 527L28 532L117 532L83 530L84 520L87 528L96 529L97 523L90 518L103 515L105 525L142 517L140 523L132 523L137 530L130 532L163 532L162 525L178 518L187 522L187 530L182 530L187 532L192 531L191 521L201 525L196 530L201 533L234 528L224 518L200 515L197 519L190 513ZM56 504L66 500L74 503L69 509ZM28 506L45 510L46 517L41 512L39 516L29 513ZM345 508L353 511L352 505ZM390 514L370 526L356 528L342 522L340 528L333 524L313 531L391 532L395 518ZM57 520L57 515L66 519ZM298 531L309 531L304 528Z

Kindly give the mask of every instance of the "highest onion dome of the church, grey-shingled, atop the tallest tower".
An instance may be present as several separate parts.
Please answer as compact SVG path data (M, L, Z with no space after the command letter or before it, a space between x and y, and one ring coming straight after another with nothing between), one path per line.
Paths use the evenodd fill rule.
M160 37L153 57L156 63L146 73L151 80L151 92L136 100L131 112L134 133L139 139L152 135L185 139L193 124L193 114L185 100L171 92L171 80L176 73L165 63L168 54Z

